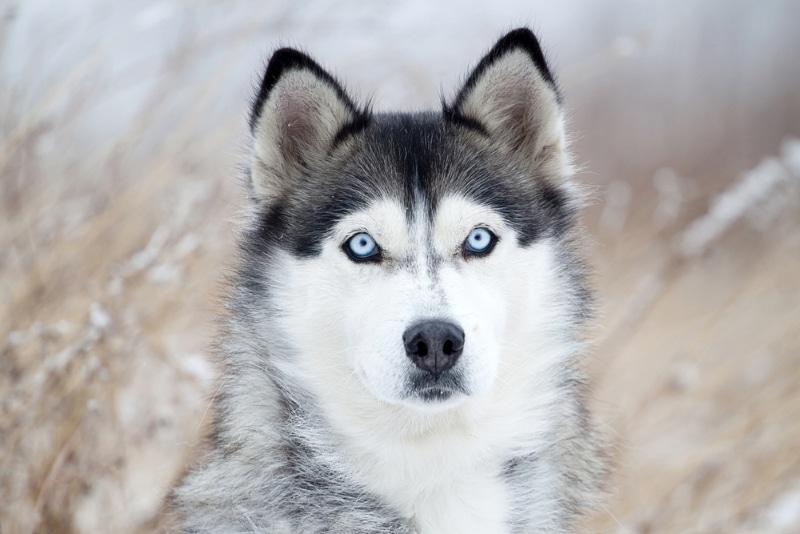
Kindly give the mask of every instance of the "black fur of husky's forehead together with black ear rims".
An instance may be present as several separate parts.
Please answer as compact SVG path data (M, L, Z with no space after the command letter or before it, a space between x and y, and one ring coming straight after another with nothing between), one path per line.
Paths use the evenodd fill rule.
M497 42L468 77L453 105L444 105L441 114L374 116L367 108L359 109L341 84L307 55L290 48L276 51L253 104L251 128L280 77L293 69L306 69L333 87L355 117L336 134L331 155L348 137L360 136L360 142L355 153L348 154L346 163L330 157L329 167L307 169L287 197L262 206L254 236L256 248L268 252L279 246L300 257L313 256L341 217L387 193L387 184L406 204L409 216L414 212L414 202L421 199L433 211L443 195L456 191L500 211L517 230L523 246L542 236L563 235L572 223L575 208L556 185L545 180L520 182L517 177L530 174L529 169L513 161L498 167L488 148L481 150L472 143L465 150L463 142L469 133L488 136L483 125L461 115L464 98L489 66L517 49L528 54L555 90L536 37L527 28L520 28ZM383 165L378 166L381 171L373 172L376 160ZM395 169L391 182L383 176L382 169L387 166Z

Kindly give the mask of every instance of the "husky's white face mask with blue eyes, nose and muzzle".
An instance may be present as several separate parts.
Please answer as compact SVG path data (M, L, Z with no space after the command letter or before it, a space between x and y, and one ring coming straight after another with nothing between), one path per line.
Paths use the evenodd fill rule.
M302 375L428 410L486 393L501 363L528 356L513 343L553 315L550 244L518 242L500 213L457 195L410 221L393 199L346 215L317 256L281 270Z

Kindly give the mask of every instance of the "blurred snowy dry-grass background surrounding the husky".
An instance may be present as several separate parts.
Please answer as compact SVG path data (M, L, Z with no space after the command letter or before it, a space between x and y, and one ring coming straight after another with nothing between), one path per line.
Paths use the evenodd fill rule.
M594 199L616 473L584 530L800 532L798 21L778 0L0 1L0 532L168 528L274 48L426 109L518 25Z

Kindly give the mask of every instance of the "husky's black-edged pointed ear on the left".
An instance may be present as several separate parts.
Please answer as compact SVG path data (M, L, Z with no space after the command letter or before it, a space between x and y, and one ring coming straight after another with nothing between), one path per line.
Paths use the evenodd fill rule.
M310 57L282 48L267 65L253 104L251 175L259 200L280 196L304 171L318 168L369 113Z

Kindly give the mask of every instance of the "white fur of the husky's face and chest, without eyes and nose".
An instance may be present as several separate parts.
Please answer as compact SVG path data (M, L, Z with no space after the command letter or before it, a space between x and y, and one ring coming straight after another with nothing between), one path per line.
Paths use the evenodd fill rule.
M488 256L465 259L461 244L478 226L500 241ZM383 263L348 259L341 246L358 232L373 236ZM280 330L297 355L281 370L319 401L344 451L332 461L423 534L504 532L501 461L540 448L553 423L555 368L574 347L559 335L567 319L551 243L516 242L499 214L461 197L444 199L435 220L415 214L411 224L383 200L341 220L318 257L287 254L271 266L286 273L275 298L290 303ZM437 279L432 254L442 262ZM413 370L402 334L426 318L466 333L457 365L470 395L433 407L400 396Z

